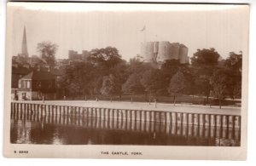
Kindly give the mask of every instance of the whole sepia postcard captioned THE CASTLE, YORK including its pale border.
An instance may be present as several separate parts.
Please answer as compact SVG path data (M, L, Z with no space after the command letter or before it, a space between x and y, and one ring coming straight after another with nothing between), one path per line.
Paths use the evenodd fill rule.
M245 4L8 3L5 156L244 159L248 19Z

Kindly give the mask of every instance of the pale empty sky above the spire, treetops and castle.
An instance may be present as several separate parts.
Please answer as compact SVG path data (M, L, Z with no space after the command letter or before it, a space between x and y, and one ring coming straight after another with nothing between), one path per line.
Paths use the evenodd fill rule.
M24 26L28 54L37 44L56 43L56 58L68 50L119 49L123 59L140 54L146 41L183 43L191 57L214 48L223 58L246 49L246 10L239 5L9 3L12 54L19 54ZM145 31L141 31L145 26Z

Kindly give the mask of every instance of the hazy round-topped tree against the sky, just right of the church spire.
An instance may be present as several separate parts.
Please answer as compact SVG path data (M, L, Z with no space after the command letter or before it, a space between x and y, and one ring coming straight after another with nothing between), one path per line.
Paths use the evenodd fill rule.
M42 42L38 43L37 51L41 56L41 59L44 63L49 66L55 66L55 53L58 49L58 46L55 43L51 42Z

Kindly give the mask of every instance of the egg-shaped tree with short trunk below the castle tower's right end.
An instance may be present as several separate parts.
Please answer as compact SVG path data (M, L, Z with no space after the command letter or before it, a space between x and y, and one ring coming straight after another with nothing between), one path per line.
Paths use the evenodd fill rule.
M177 71L176 74L171 78L168 92L173 94L173 102L175 103L175 99L177 94L185 94L186 90L189 87L189 83L187 82L186 77L183 72Z

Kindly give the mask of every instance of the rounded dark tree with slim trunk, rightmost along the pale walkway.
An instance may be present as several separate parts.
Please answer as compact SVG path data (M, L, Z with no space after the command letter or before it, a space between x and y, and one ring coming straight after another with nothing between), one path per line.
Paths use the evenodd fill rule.
M210 83L212 84L212 95L218 99L219 108L221 108L222 100L224 100L227 95L228 82L229 76L225 70L218 69L213 72Z

